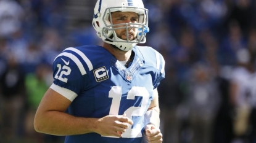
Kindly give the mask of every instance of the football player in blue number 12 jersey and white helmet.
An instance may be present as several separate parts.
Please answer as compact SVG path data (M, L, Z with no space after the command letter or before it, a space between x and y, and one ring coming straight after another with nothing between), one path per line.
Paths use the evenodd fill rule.
M40 133L65 142L162 142L157 86L163 56L146 42L148 10L141 0L98 0L93 26L104 44L69 47L35 115Z

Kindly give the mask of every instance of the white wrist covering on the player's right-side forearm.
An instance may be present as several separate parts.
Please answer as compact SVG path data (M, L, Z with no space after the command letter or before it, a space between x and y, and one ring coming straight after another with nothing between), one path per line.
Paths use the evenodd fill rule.
M160 118L159 118L159 112L156 110L147 110L146 114L144 115L145 118L145 126L147 124L153 124L156 128L159 128L160 126Z

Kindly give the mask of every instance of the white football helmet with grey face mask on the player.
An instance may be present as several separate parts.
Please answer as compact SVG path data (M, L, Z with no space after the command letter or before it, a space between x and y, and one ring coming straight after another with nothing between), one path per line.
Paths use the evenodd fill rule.
M138 23L122 23L113 25L111 12L135 12L139 16ZM146 42L146 33L148 28L148 10L144 8L142 0L97 0L94 7L93 26L104 42L115 45L120 50L131 50L136 44ZM114 28L114 26L122 26ZM128 35L128 29L138 28L138 34L132 41L123 40L117 37L115 29L125 28Z

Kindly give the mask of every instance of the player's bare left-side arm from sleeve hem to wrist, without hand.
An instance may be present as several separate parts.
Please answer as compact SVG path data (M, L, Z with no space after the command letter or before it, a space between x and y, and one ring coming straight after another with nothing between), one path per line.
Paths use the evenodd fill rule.
M49 88L36 111L35 130L54 135L81 134L93 131L96 119L77 118L66 114L65 110L70 104L70 100ZM89 126L90 123L91 126Z

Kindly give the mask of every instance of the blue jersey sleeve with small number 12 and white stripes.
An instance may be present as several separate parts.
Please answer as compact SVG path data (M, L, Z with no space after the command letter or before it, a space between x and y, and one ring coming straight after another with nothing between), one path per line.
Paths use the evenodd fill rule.
M86 86L88 79L88 64L85 62L84 53L76 48L66 48L60 53L52 64L54 82L53 90L73 101ZM91 63L89 63L91 64Z

